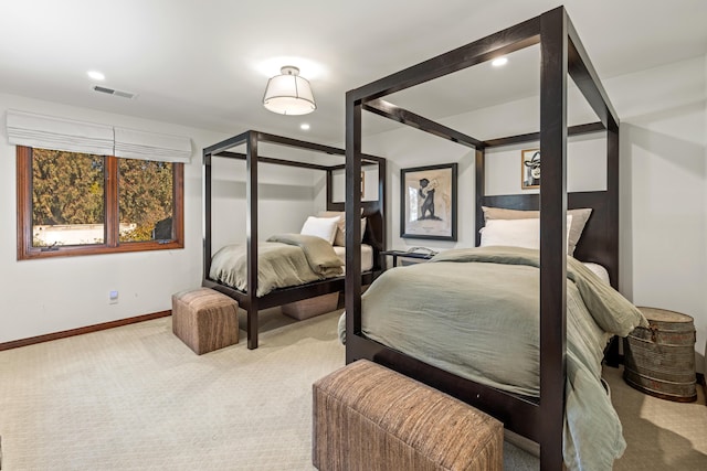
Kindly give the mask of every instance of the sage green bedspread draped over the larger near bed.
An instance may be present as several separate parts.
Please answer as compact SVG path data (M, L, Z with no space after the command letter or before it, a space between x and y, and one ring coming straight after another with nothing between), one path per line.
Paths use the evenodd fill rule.
M538 267L538 250L483 247L388 270L362 296L362 331L442 370L537 397ZM611 334L647 321L578 260L568 257L567 271L564 461L570 470L606 470L625 441L600 383L603 349Z

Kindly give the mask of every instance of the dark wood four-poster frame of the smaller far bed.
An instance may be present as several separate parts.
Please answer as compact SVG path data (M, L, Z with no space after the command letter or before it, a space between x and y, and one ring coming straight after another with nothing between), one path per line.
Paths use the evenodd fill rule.
M317 144L313 142L291 139L286 137L258 132L254 130L245 131L239 136L226 139L213 146L203 149L203 278L202 286L221 291L239 302L239 307L247 312L247 347L257 349L258 319L257 313L261 309L273 308L289 302L300 301L303 299L316 296L327 295L330 292L341 291L345 288L345 277L329 278L320 281L313 281L306 285L294 286L288 288L275 289L265 296L256 297L257 292L257 172L258 163L271 163L278 165L289 165L297 168L312 169L327 172L327 211L345 211L344 202L333 201L333 175L336 170L345 169L344 164L321 165L316 163L298 162L295 160L275 159L258 154L258 143L267 142L272 144L281 144L296 149L304 149L315 152L323 152L334 156L344 156L342 149ZM245 146L245 153L232 152L238 146ZM213 217L211 211L211 161L213 158L239 159L245 161L246 168L246 217L245 217L245 239L247 256L247 291L240 291L233 287L223 285L209 278L211 269L211 257L213 256L211 243L211 221ZM386 249L386 159L376 156L362 156L363 165L378 165L378 201L360 202L359 207L359 229L360 235L360 211L363 210L363 216L367 217L366 233L363 235L363 244L373 247L373 268L370 271L361 274L359 283L370 283L374 274L379 272L380 251ZM360 176L359 176L360 180ZM360 251L360 236L357 249ZM347 250L347 253L350 250ZM360 264L358 270L349 269L346 272L360 272Z

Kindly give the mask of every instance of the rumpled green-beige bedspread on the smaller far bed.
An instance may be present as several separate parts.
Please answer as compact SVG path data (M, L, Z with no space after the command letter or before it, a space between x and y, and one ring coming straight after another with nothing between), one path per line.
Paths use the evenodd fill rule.
M327 240L300 234L279 234L257 245L258 297L276 288L337 277L341 260ZM222 247L211 259L209 277L241 291L247 290L245 244Z

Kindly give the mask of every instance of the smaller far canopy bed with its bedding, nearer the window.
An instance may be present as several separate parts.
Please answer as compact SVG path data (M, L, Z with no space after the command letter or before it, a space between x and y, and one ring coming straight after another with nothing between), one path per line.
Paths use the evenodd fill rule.
M258 318L261 309L273 308L287 303L302 301L305 299L339 292L345 287L342 268L346 272L352 272L345 265L345 254L350 250L335 245L338 240L344 240L341 234L337 234L345 226L336 224L329 240L324 240L314 234L321 236L321 224L327 220L334 220L344 214L345 203L334 201L334 179L337 172L342 172L344 164L334 161L321 164L302 161L303 159L273 158L260 154L258 144L274 144L304 151L315 154L344 156L341 149L323 146L314 142L258 132L254 130L245 131L231 139L226 139L203 150L203 279L202 285L221 291L236 301L239 307L247 312L247 345L249 349L257 347ZM245 147L245 152L234 152L232 149ZM218 215L213 214L212 192L213 192L213 159L235 159L245 161L245 199L246 212L244 232L245 243L233 244L228 247L214 247L212 231L213 223ZM333 160L329 159L329 160ZM286 165L289 168L309 169L326 173L326 213L319 213L312 218L307 218L302 226L303 234L268 234L268 240L258 243L258 168L260 164ZM377 197L371 201L359 203L359 229L358 244L356 250L358 256L357 274L363 283L370 283L373 274L380 270L379 253L384 250L384 194L386 194L386 159L374 156L366 156L363 170L373 168L377 174L376 190ZM276 218L277 215L268 215ZM321 217L318 217L321 216ZM329 217L327 217L329 216ZM314 224L309 231L305 231L307 223ZM327 226L329 227L329 226ZM304 233L307 234L304 234ZM338 240L337 240L338 238ZM318 239L318 240L317 240ZM339 242L344 244L344 242ZM327 247L327 245L329 247ZM361 245L365 248L361 248ZM285 247L282 247L285 246ZM274 253L273 250L279 250ZM287 250L294 258L282 264L283 251ZM338 254L336 250L339 250ZM334 255L331 255L334 254ZM369 255L369 264L361 269L361 255ZM335 259L333 259L333 256ZM344 259L344 260L341 260ZM294 261L292 261L294 260ZM341 261L338 261L341 260ZM267 286L263 281L263 271L279 274L283 266L298 265L303 272L288 272L287 282L281 279L268 281ZM309 268L313 268L312 271ZM318 267L318 268L315 268Z

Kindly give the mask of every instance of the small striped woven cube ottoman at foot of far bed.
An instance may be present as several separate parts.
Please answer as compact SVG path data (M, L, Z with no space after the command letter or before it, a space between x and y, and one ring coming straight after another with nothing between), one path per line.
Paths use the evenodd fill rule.
M172 295L172 332L197 355L239 343L239 303L210 288Z

